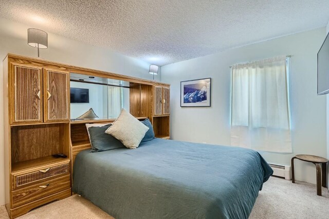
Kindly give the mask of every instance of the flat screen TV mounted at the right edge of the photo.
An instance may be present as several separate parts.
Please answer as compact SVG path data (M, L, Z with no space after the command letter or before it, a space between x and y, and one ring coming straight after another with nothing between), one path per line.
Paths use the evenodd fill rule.
M328 33L329 35L329 33ZM329 93L329 37L318 52L318 95Z

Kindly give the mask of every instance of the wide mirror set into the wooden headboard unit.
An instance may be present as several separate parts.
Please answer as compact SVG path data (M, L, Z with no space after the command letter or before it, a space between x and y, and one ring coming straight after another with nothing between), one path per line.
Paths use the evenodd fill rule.
M117 118L130 111L131 83L104 77L70 73L71 121Z

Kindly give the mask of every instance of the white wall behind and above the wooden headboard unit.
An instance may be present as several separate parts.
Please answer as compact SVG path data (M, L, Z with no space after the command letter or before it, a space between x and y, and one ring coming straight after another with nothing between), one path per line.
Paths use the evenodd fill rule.
M4 142L3 142L3 72L2 60L7 53L35 57L36 49L27 45L27 29L38 26L26 26L0 18L0 206L5 204L4 197ZM78 34L78 33L77 33ZM79 67L92 68L118 74L152 79L148 73L149 63L136 58L112 52L56 34L48 33L48 49L41 50L46 60ZM160 81L161 74L156 75Z

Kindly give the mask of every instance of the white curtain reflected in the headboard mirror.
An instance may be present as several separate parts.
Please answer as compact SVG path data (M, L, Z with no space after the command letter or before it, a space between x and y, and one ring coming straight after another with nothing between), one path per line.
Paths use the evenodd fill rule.
M120 87L108 86L108 118L117 118L120 115L121 89Z

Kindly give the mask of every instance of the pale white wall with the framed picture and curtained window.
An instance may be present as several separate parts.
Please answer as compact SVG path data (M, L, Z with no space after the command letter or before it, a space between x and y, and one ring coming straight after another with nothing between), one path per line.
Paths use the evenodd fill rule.
M317 52L325 28L298 33L161 67L171 84L171 137L230 145L230 68L278 55L292 55L290 106L293 153L261 152L267 162L290 165L295 154L326 156L326 97L317 96ZM211 107L181 108L180 81L212 78ZM296 161L296 179L316 183L313 164Z

